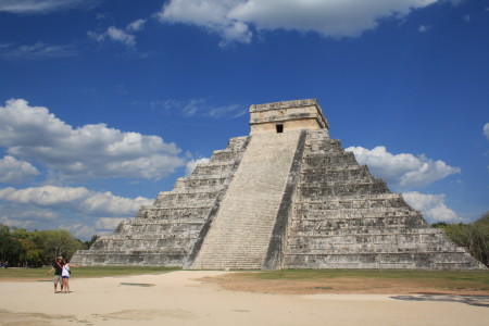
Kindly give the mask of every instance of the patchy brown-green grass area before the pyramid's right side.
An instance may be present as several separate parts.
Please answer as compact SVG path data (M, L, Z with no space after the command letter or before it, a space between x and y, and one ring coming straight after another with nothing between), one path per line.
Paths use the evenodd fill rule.
M489 296L489 272L286 269L209 279L229 290L269 293L457 293Z

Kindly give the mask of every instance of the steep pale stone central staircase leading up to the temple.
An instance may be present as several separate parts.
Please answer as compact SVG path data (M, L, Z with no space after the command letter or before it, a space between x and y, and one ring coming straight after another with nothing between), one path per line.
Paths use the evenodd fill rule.
M190 268L262 268L300 133L251 136L218 214Z

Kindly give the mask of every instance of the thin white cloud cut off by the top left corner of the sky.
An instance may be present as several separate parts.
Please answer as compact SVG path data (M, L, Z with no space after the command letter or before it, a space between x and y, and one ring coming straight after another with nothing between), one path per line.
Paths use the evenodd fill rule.
M0 12L43 14L75 7L90 7L92 0L1 0Z

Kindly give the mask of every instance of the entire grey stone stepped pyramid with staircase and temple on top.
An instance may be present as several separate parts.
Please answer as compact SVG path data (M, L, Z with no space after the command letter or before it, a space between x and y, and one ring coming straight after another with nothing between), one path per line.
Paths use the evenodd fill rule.
M80 265L188 269L485 266L330 139L316 100L250 106L249 136L178 178Z

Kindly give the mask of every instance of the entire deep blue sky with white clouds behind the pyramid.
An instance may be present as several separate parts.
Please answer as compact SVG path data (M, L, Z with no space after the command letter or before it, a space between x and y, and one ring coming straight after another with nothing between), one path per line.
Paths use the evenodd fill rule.
M306 98L428 222L489 211L488 0L0 0L0 223L110 233Z

